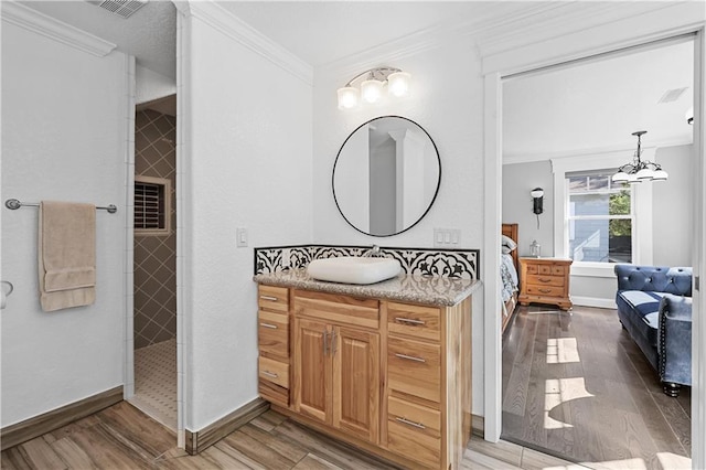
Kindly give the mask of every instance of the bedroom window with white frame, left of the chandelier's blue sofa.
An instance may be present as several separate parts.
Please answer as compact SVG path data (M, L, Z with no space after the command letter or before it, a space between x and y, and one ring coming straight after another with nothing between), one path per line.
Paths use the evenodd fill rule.
M613 170L566 173L568 256L574 261L632 263L632 188Z

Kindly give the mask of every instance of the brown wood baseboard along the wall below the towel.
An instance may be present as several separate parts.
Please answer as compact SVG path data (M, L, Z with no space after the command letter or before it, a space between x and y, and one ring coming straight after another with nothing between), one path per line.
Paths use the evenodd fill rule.
M77 419L100 412L108 406L122 402L122 385L92 395L78 402L69 403L51 412L34 416L0 429L2 450L34 439L43 434L58 429Z

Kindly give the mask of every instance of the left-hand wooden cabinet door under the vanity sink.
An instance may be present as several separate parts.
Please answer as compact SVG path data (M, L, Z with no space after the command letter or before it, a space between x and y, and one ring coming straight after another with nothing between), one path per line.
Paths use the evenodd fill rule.
M295 410L331 424L331 359L327 324L295 320Z

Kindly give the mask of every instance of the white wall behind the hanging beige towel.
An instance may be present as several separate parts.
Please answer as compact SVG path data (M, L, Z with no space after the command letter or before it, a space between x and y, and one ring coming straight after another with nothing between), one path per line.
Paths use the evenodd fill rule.
M2 216L2 423L122 384L127 60L2 23L2 201L116 204L96 214L96 302L43 312L38 209ZM3 204L4 205L4 204Z

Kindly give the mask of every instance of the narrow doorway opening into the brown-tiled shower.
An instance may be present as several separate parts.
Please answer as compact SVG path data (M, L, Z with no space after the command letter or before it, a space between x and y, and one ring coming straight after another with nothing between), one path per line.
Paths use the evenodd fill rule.
M176 96L136 107L130 403L176 431Z

